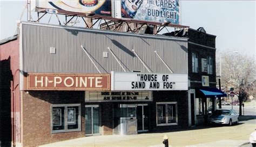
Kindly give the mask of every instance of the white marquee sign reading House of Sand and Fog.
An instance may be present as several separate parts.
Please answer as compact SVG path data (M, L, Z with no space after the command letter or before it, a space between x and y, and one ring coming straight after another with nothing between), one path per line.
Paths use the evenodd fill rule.
M188 90L188 76L187 74L112 71L111 90Z

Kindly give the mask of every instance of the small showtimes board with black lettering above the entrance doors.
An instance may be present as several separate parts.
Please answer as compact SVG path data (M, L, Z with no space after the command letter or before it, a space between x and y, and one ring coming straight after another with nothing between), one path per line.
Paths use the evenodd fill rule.
M151 91L85 91L85 102L152 100Z

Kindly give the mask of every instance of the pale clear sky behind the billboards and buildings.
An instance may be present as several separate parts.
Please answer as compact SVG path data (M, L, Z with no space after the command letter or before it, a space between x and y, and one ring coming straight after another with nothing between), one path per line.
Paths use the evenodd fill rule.
M26 1L0 0L0 40L16 34L17 20L26 20ZM180 0L181 25L216 35L217 53L239 54L254 57L256 61L256 2L251 1L189 1ZM32 17L36 19L36 12ZM41 23L48 23L49 17ZM46 18L46 17L45 17ZM52 17L52 19L55 19ZM57 19L51 23L57 23ZM82 22L81 22L82 24Z

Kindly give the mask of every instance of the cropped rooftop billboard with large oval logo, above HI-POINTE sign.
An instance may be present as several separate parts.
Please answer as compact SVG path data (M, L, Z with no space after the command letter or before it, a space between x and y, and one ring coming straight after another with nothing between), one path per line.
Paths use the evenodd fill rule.
M111 16L112 11L109 0L36 0L36 8L37 11L52 9L64 14L93 13L103 16Z

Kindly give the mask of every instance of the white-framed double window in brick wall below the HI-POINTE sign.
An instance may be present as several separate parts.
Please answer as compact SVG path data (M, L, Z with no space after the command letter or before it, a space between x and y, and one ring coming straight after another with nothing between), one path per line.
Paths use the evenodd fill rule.
M52 105L52 133L80 131L80 104Z

